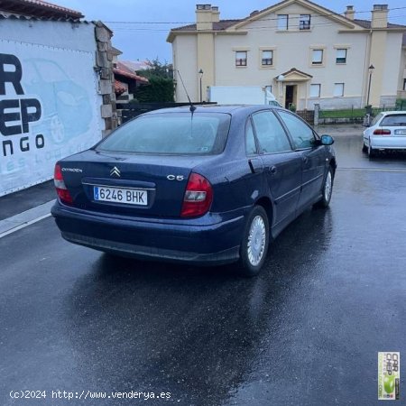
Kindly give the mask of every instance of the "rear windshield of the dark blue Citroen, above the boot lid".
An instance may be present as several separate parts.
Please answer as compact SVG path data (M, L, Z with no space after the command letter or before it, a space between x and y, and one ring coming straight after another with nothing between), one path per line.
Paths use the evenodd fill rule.
M158 113L142 115L117 128L96 150L101 152L213 155L223 152L230 115Z

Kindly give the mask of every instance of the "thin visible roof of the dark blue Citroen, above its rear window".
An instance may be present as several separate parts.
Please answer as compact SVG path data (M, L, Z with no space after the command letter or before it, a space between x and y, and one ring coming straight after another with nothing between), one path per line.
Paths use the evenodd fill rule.
M239 113L253 113L258 110L281 109L279 106L271 105L193 105L196 107L194 113L226 113L229 115ZM159 110L152 110L145 115L153 115L160 113L187 113L190 112L190 106L180 106L171 108L160 108Z

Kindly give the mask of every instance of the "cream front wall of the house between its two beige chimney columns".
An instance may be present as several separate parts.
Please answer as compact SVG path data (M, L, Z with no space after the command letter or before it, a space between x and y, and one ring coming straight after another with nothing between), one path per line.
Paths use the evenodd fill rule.
M290 6L281 10L281 14L306 14L306 9ZM321 84L321 98L333 97L335 83L345 83L345 97L361 97L363 94L364 60L367 57L367 35L338 33L344 27L325 17L311 18L310 31L278 32L276 14L268 14L264 21L249 23L241 28L247 31L242 35L217 35L216 39L216 85L217 86L265 86L276 83L274 78L291 68L299 69L313 78L310 83ZM292 20L292 19L291 19ZM335 46L346 45L347 62L336 64ZM322 67L311 66L310 47L324 49L325 64ZM261 48L272 48L274 66L261 67ZM235 49L248 50L247 67L235 67ZM303 88L301 88L303 89ZM309 93L309 92L308 92ZM302 91L299 97L306 97Z

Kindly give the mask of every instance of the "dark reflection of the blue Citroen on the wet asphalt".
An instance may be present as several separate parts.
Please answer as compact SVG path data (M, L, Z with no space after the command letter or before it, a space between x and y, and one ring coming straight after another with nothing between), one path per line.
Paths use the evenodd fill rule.
M235 276L232 265L194 268L101 254L67 303L77 373L99 390L149 388L171 392L181 404L232 398L263 351L290 334L287 319L296 317L298 299L325 272L320 261L332 229L331 210L307 211L272 244L254 279Z

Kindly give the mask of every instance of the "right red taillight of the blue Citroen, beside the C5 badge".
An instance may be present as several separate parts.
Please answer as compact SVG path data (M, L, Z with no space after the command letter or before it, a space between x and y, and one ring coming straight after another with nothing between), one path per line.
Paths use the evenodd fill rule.
M208 212L213 201L210 182L198 173L191 173L183 198L181 217L198 217Z

